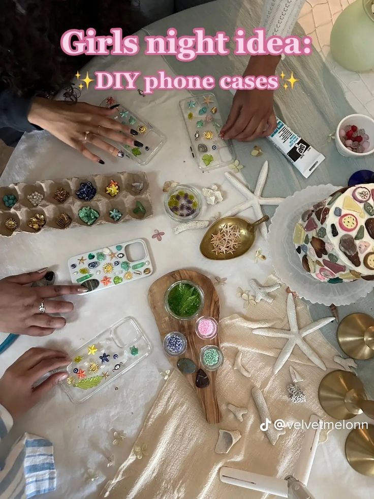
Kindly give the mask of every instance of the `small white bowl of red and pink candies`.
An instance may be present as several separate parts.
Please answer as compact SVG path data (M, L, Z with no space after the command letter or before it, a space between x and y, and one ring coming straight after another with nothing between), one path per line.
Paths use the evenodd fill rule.
M338 124L335 144L341 156L362 157L374 153L374 120L365 114L350 114Z

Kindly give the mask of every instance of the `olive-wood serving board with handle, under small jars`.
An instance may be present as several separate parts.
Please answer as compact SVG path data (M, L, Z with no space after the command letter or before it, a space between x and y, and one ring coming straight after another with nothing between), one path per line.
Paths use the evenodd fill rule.
M179 331L180 333L183 333L187 338L188 345L184 354L182 354L180 357L168 356L170 363L177 368L178 359L185 357L195 362L196 371L198 371L199 368L203 369L200 364L201 348L205 345L220 346L219 335L211 340L202 340L195 333L195 322L198 317L193 320L178 320L174 317L171 317L165 310L164 296L166 290L171 284L181 280L192 281L195 284L199 284L199 286L204 291L204 308L199 315L214 317L215 320L219 322L220 299L217 295L214 285L208 277L193 270L182 269L170 272L170 274L166 274L165 276L155 281L149 288L148 301L160 331L161 341L164 341L164 337L168 333L171 333L173 331ZM203 370L208 375L210 381L210 384L207 388L197 388L195 384L196 372L192 374L185 374L185 376L194 387L197 396L200 399L201 405L205 411L207 422L209 424L219 423L221 421L221 414L217 404L215 389L216 371L211 372L206 371L205 369Z

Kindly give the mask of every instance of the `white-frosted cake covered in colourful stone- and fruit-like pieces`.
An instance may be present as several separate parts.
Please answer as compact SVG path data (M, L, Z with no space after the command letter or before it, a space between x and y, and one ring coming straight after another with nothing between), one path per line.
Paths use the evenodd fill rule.
M304 211L293 242L320 281L374 279L374 184L341 189Z

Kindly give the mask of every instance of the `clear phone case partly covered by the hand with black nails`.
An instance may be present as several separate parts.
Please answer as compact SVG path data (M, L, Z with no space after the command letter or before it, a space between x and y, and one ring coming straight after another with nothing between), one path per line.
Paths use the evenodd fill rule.
M131 147L127 144L120 144L114 140L108 140L116 146L120 146L120 149L124 149L124 154L131 160L136 161L139 165L146 165L157 154L162 146L166 142L166 136L154 125L146 120L143 120L141 116L135 114L130 109L122 106L113 97L107 97L100 104L102 107L111 107L115 104L119 104L116 113L112 118L123 125L136 130L138 135L131 136L134 140L138 140L144 144L143 148Z

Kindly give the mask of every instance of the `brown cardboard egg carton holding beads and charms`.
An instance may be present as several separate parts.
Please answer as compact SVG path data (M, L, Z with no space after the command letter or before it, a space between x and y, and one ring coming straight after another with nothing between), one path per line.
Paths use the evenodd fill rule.
M106 187L111 181L118 183L119 192L112 197L106 193ZM82 183L90 182L96 189L95 196L90 201L77 197L77 191ZM133 184L143 184L140 192L134 190ZM54 198L57 189L65 189L69 197L65 202L59 202ZM43 195L38 206L33 206L27 196L34 192ZM8 208L4 202L4 196L14 195L17 199L15 205ZM145 213L134 213L137 201L145 208ZM72 177L63 180L44 180L35 184L11 184L8 187L0 187L0 236L11 237L18 232L29 232L38 234L47 228L64 230L56 223L57 217L66 213L72 219L68 227L85 226L87 223L79 218L78 212L84 207L90 207L99 212L100 216L92 225L101 223L121 223L127 220L143 220L153 214L152 203L149 194L149 182L144 171L128 173L120 171L112 174L88 175L87 177ZM117 209L122 217L115 221L110 218L110 211ZM36 214L45 217L45 225L36 231L27 225L30 218ZM12 218L17 223L17 228L7 228L6 221Z

